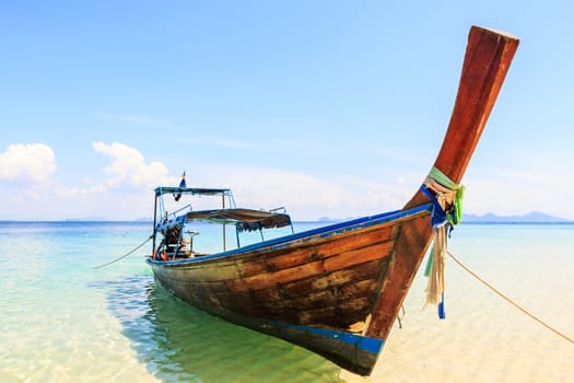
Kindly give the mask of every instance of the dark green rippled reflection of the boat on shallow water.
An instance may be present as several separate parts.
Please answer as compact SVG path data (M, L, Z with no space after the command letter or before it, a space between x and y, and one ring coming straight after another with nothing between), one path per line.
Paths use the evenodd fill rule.
M197 310L149 276L105 288L138 359L164 382L341 382L324 358Z

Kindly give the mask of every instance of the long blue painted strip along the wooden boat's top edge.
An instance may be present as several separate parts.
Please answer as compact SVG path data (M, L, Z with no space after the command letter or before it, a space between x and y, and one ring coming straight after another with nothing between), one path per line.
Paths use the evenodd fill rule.
M272 240L255 243L251 245L247 245L247 246L239 247L239 248L234 248L234 249L223 252L223 253L204 255L198 258L187 258L187 259L177 259L177 260L154 260L154 259L148 258L147 260L149 264L162 265L162 266L168 267L168 266L178 266L181 264L194 264L197 262L226 257L226 256L242 254L245 252L250 252L250 251L255 251L255 249L268 247L268 246L273 246L272 249L280 249L284 246L291 245L292 241L302 240L308 236L328 237L335 234L343 233L345 231L361 230L361 229L365 229L365 228L368 228L375 224L397 221L402 218L418 214L422 211L431 211L432 206L433 206L432 204L424 204L424 205L414 207L409 210L396 210L396 211L385 212L385 213L380 213L376 216L362 217L362 218L358 218L358 219L350 220L350 221L335 223L335 224L330 224L330 225L326 225L326 227L321 227L317 229L307 230L301 233L295 233L291 235L281 236L278 239L272 239Z

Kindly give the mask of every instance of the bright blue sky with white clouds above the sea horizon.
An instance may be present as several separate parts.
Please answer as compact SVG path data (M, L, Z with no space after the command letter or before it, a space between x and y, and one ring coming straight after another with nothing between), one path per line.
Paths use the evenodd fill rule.
M232 187L295 220L400 208L450 118L472 24L520 46L465 211L574 219L567 1L2 1L0 219L150 217Z

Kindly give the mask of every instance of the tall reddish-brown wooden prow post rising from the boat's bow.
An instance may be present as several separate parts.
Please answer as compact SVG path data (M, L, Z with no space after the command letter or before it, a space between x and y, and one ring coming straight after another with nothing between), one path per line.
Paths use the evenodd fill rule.
M507 33L479 26L470 28L450 123L434 163L457 184L472 156L517 47L518 39ZM403 209L427 201L419 190ZM402 227L385 286L374 305L367 336L387 337L431 244L432 230L427 220L414 220Z

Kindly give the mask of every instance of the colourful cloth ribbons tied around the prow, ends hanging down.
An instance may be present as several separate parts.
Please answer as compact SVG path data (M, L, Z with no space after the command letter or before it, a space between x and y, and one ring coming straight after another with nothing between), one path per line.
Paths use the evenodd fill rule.
M446 242L453 228L460 222L465 186L453 182L433 166L421 185L421 190L433 202L431 224L434 230L434 243L424 272L429 277L426 304L438 304L438 317L444 320Z

